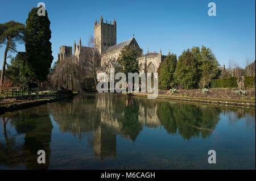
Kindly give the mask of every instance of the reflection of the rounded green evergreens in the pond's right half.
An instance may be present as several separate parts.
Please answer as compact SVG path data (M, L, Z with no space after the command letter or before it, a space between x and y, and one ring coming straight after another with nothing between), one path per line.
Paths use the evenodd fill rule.
M183 103L159 102L158 117L168 133L191 137L209 137L220 120L220 108Z

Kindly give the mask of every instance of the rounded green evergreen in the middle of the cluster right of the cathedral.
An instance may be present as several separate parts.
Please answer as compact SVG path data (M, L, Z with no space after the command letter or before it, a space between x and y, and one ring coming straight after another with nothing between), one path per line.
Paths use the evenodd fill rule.
M179 56L174 77L184 89L197 88L200 79L199 61L189 48Z

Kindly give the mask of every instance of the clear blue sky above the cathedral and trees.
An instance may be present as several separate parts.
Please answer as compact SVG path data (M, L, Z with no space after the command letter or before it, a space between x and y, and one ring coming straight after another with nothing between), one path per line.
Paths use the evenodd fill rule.
M26 23L28 12L44 2L51 21L54 61L61 45L73 46L74 40L88 44L93 23L101 13L117 20L117 43L135 35L147 52L179 56L184 49L201 45L212 49L218 62L228 66L230 59L243 68L245 60L255 60L255 1L10 1L0 0L0 23L15 20ZM216 3L217 16L208 16L208 3ZM0 49L2 68L3 52ZM18 45L24 50L24 44ZM9 60L7 61L9 62Z

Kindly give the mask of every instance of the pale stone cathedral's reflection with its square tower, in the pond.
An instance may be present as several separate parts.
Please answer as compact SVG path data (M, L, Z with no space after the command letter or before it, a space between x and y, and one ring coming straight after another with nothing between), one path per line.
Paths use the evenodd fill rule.
M96 108L100 115L100 124L93 131L93 151L100 161L106 157L116 155L116 136L120 135L127 140L134 141L143 125L150 128L161 127L160 120L156 114L157 104L146 107L146 104L134 102L131 96L119 97L116 99L106 96L97 96ZM123 103L119 105L120 103ZM117 108L118 107L118 108ZM137 111L137 112L134 112ZM129 125L130 119L132 124ZM124 125L125 124L125 125ZM136 130L130 128L138 127L137 134L131 135Z

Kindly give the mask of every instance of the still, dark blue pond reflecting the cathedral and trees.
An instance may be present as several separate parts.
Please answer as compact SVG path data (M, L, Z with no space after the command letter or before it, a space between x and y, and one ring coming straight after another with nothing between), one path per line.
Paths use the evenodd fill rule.
M255 169L255 110L88 93L0 117L0 169Z

